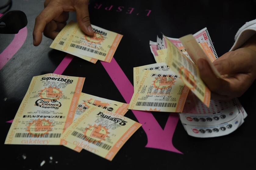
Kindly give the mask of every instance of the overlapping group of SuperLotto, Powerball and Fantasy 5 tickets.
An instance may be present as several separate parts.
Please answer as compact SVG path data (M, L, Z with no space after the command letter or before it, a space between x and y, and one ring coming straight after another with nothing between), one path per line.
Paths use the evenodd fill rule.
M112 160L141 124L129 104L82 93L84 77L33 77L5 144L63 145Z

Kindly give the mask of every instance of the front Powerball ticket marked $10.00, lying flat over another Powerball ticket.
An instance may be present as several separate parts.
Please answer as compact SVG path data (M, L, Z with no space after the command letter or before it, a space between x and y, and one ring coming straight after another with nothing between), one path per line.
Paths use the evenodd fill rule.
M144 70L128 109L182 112L188 92L189 89L174 72Z

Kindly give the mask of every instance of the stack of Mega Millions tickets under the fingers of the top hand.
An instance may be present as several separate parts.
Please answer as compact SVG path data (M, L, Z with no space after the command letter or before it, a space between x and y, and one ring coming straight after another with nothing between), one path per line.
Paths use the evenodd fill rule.
M98 60L110 63L122 35L91 25L94 36L87 36L77 22L69 22L56 36L51 48L80 57L91 63Z

